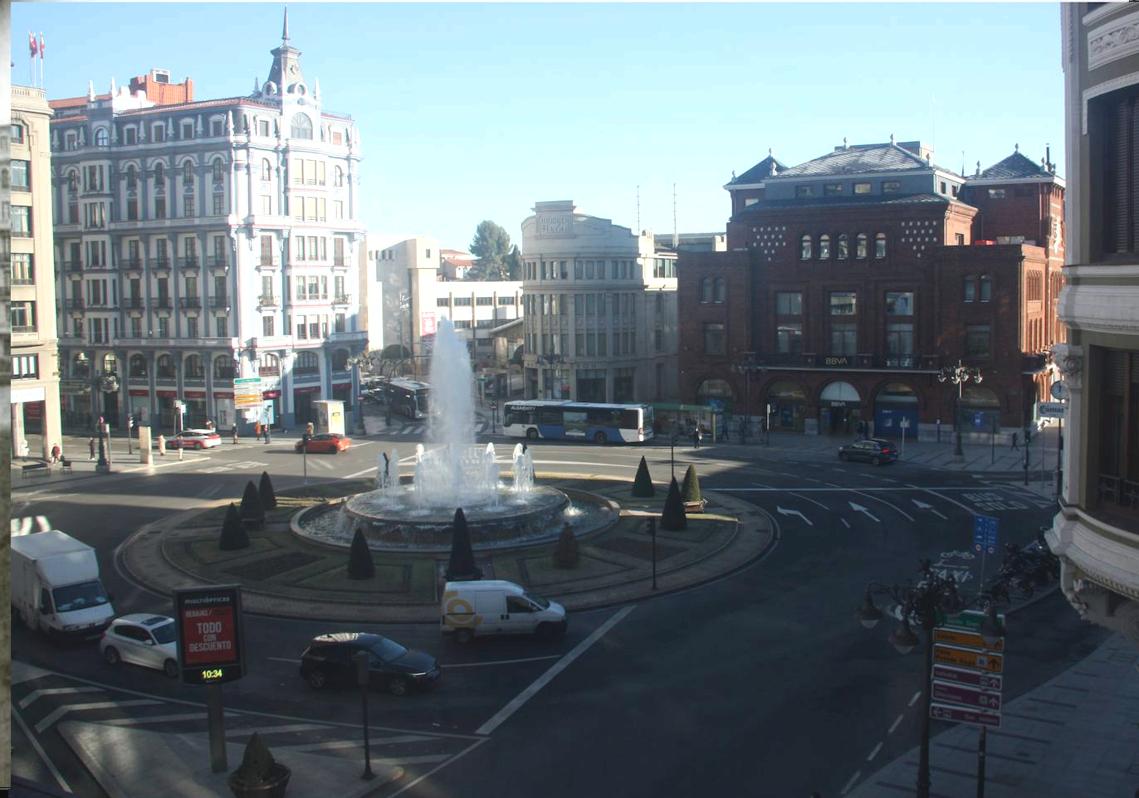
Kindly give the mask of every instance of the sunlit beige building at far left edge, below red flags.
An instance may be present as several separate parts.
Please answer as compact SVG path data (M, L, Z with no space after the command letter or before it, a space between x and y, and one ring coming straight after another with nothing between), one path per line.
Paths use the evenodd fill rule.
M11 441L15 454L43 458L63 443L50 118L42 89L13 87L9 161L2 180L11 204Z

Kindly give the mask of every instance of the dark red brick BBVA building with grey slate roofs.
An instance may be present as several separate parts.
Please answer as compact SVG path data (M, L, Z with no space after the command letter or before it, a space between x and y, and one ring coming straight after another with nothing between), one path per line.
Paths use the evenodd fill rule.
M920 142L835 148L734 178L726 253L679 262L681 401L776 429L1019 429L1058 339L1064 182L1019 151L965 178ZM982 381L960 401L939 370Z

